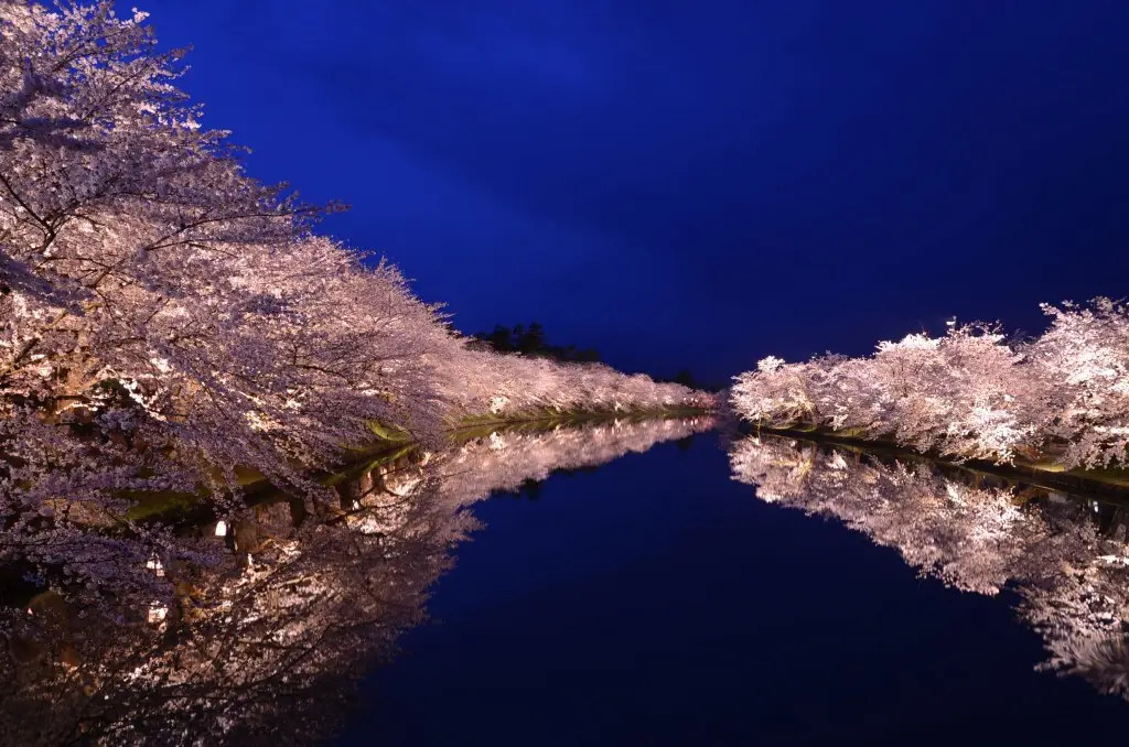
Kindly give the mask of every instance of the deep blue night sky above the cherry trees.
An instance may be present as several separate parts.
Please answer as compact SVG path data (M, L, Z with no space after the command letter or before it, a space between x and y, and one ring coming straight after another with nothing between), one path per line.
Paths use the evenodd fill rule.
M465 331L721 378L1126 292L1129 2L145 9L251 170Z

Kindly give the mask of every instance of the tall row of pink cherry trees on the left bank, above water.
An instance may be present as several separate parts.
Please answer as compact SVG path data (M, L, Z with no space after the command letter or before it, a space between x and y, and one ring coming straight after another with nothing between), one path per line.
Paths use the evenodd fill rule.
M435 442L467 415L708 404L466 349L315 234L326 209L244 173L143 21L0 0L0 557L59 556L25 538L79 524L119 542L131 492L230 500L237 467L316 491L374 422Z

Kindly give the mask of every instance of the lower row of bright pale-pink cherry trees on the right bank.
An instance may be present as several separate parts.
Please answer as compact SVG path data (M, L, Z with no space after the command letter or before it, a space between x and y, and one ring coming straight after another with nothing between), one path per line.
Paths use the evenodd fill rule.
M878 343L869 358L765 358L736 378L744 419L890 439L957 458L1129 466L1129 309L1044 305L1048 331L1008 341L986 325Z

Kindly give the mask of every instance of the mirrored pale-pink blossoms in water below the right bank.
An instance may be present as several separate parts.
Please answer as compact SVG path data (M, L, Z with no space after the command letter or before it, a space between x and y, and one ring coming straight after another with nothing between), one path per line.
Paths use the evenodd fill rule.
M1097 522L1104 515L1093 502L776 437L738 441L729 462L762 500L833 517L898 550L922 575L964 591L1015 591L1021 617L1044 639L1040 669L1129 698L1121 511Z

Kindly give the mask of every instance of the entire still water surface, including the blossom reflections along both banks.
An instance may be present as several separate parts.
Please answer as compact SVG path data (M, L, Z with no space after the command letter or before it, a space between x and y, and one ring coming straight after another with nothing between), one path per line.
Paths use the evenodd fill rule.
M0 744L1129 733L1129 501L712 424L469 431L264 486L222 531L170 515L199 560L166 597L9 578Z

